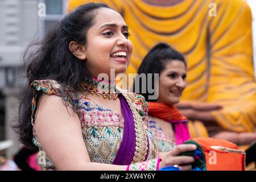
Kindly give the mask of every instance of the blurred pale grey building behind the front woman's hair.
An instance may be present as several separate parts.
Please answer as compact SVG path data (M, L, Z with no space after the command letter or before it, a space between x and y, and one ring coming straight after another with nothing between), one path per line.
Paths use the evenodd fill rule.
M35 36L44 35L52 22L61 19L65 0L0 0L0 140L11 139L19 148L11 123L18 114L18 94L26 82L22 69L24 49Z

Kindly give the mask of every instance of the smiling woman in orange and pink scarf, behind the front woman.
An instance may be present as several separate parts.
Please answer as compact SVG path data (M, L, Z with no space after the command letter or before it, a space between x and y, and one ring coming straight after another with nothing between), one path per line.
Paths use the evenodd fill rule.
M150 129L155 135L158 150L168 152L189 139L188 120L176 109L187 83L187 63L181 53L166 43L156 44L144 57L138 74L159 74L156 100L149 93L138 92L148 101ZM139 85L142 85L140 80ZM153 81L154 82L154 81Z

